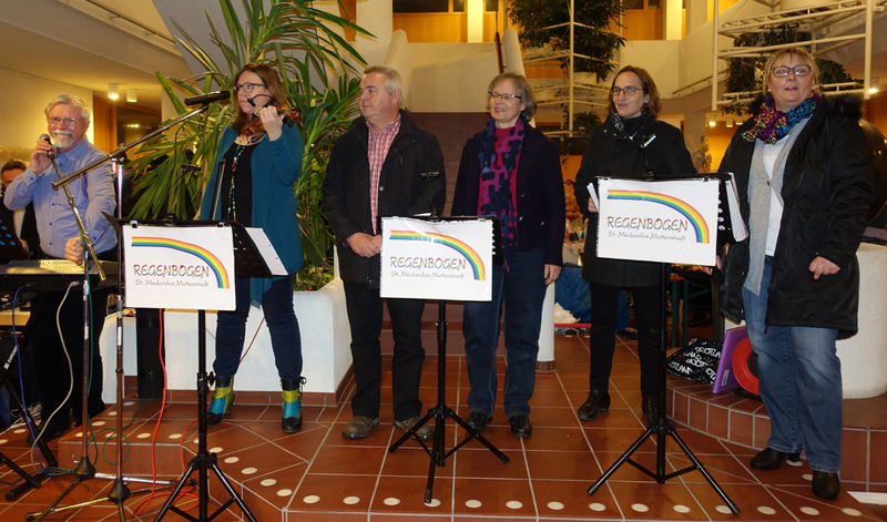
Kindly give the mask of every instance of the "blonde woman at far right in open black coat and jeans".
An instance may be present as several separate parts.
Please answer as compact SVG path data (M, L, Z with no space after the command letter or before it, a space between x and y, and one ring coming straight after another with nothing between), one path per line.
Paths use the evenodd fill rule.
M751 465L775 470L803 451L813 492L840 491L842 381L835 341L857 330L856 248L871 194L859 101L825 99L804 49L764 69L764 98L721 163L736 176L750 237L724 259L722 309L743 318L757 355L767 447Z

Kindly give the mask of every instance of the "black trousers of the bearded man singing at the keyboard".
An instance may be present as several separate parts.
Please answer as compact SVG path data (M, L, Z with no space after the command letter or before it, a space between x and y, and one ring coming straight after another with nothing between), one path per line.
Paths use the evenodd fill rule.
M99 337L108 310L108 296L110 288L92 291L92 329L91 340L91 368L89 377L89 409L90 417L104 410L102 402L102 357L99 349ZM83 293L81 287L72 288L68 298L62 303L63 291L50 291L37 296L31 301L31 317L28 321L28 345L34 365L37 381L40 387L40 400L43 405L42 416L47 419L59 406L61 409L53 416L53 422L61 428L70 427L70 416L73 413L74 422L80 423L82 417L82 368L83 368ZM61 305L61 310L59 306ZM55 314L59 310L59 326L57 327ZM59 337L61 328L64 339L62 347ZM68 367L65 350L71 359ZM68 388L73 376L73 390L65 401Z

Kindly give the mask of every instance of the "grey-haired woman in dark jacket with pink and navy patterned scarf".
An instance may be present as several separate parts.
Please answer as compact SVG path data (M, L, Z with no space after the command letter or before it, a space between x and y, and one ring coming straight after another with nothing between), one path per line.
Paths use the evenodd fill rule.
M496 346L504 308L504 413L514 437L530 437L530 397L546 286L561 272L565 211L558 145L530 126L527 79L503 73L488 90L491 119L462 149L455 216L499 218L504 264L492 269L492 300L466 303L462 318L471 391L468 423L483 430L496 405Z

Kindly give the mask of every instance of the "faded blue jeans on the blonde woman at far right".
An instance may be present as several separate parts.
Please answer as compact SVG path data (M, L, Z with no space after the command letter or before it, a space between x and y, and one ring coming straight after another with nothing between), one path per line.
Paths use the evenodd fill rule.
M843 429L837 330L766 324L771 262L767 257L764 264L761 295L742 289L761 399L771 418L767 447L786 453L804 450L810 469L836 473Z

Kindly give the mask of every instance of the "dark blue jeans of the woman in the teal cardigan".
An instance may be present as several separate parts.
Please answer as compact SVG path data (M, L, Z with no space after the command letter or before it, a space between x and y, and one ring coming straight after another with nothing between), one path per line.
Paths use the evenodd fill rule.
M234 279L236 308L220 311L215 328L216 376L233 377L241 365L246 318L249 315L249 278ZM298 320L293 310L293 279L276 279L262 296L262 311L271 334L274 364L282 379L298 379L302 376L302 337Z

